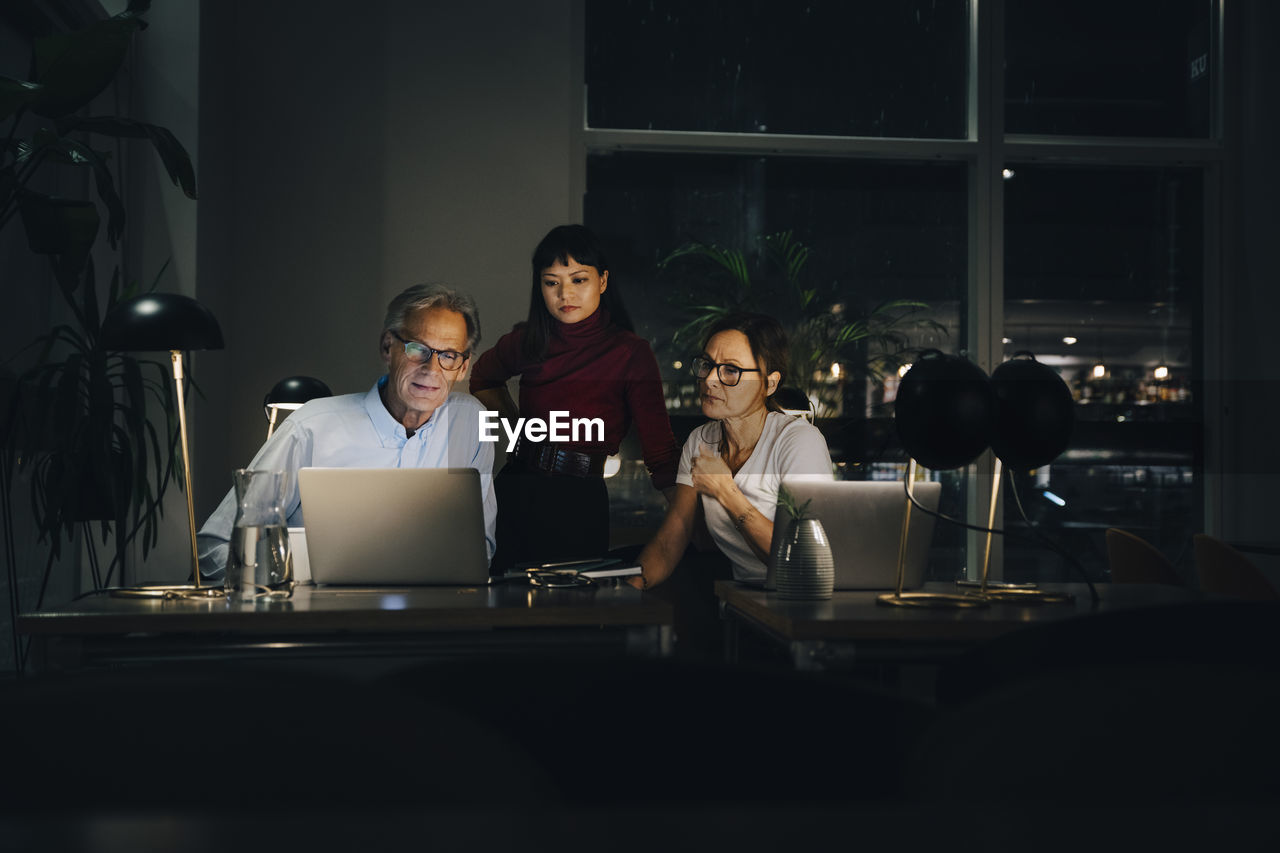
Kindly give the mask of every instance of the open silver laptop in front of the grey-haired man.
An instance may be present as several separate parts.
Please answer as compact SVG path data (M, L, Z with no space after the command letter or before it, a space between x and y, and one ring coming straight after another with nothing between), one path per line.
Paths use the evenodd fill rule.
M316 584L488 583L475 469L303 467L298 491Z

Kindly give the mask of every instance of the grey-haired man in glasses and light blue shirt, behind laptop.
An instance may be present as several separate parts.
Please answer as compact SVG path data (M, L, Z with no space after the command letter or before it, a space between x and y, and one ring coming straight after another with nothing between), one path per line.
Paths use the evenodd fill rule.
M369 392L312 400L262 444L251 469L474 467L480 471L485 540L494 549L493 444L479 439L484 406L451 393L480 343L475 300L443 284L416 284L387 306L380 350L387 374ZM289 476L284 512L302 525L297 476ZM200 574L218 580L236 521L227 493L197 537Z

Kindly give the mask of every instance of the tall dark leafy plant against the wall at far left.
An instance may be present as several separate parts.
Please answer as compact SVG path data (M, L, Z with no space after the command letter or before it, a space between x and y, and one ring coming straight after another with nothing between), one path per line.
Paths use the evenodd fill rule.
M174 184L196 197L191 158L173 133L124 117L84 114L116 78L133 36L146 27L141 15L148 8L150 0L131 0L120 14L36 38L31 79L0 77L0 231L20 223L27 246L47 259L50 270L6 287L52 280L67 318L6 361L0 388L5 530L14 525L13 498L24 491L49 547L41 599L51 567L77 533L96 526L102 543L114 542L105 569L88 549L95 585L110 584L116 570L123 574L131 543L140 542L146 555L157 538L165 491L180 474L177 425L168 418L168 361L109 352L99 339L102 318L140 288L122 282L116 266L102 292L91 252L105 232L106 254L118 254L125 228L115 164L96 140L148 142ZM42 192L42 175L52 172L86 175L79 182L83 195ZM15 362L20 365L10 366ZM166 419L148 418L156 411L148 403L160 403ZM15 597L12 535L6 544Z

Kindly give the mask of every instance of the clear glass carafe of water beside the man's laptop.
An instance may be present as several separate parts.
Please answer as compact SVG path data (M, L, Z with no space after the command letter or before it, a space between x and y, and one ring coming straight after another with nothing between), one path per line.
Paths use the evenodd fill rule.
M284 471L239 469L236 480L236 525L232 528L223 587L230 601L293 594L289 530L284 517Z

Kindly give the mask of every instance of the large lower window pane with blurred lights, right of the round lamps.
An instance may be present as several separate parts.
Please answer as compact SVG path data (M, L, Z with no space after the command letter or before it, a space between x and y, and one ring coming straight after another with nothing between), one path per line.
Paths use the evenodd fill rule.
M1024 507L1093 578L1106 573L1108 526L1189 558L1201 519L1202 173L1011 168L1005 355L1034 352L1079 403L1066 453L1019 475ZM1025 532L1010 500L1005 523ZM1071 579L1056 556L1012 540L1005 571Z

